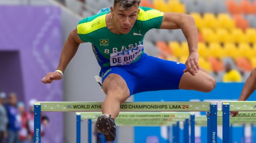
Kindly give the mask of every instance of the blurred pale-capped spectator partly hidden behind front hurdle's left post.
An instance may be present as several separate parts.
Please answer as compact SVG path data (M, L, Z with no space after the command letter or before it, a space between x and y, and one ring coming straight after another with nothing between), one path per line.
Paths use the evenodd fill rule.
M31 99L29 102L30 105L30 111L28 114L28 125L29 125L29 136L28 140L29 143L33 142L33 136L34 136L34 103L37 102L35 99ZM41 113L41 137L44 136L44 129L48 125L49 118Z

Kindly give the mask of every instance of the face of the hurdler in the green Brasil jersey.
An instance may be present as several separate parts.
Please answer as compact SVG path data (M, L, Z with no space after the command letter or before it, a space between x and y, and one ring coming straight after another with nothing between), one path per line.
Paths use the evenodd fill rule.
M121 10L119 4L116 4L115 8L111 7L111 14L119 32L123 34L130 32L138 18L138 12L139 6L137 4L126 10Z

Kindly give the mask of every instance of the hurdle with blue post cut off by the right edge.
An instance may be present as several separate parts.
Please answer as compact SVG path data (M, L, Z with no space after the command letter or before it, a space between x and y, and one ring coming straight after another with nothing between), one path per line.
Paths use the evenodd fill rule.
M230 143L230 120L232 118L229 117L229 111L251 111L250 113L243 116L243 114L240 114L237 119L242 117L249 117L247 120L251 120L251 122L254 122L254 119L256 117L256 101L223 101L222 102L222 111L223 111L223 143ZM254 111L255 113L252 113ZM242 119L241 119L242 120Z

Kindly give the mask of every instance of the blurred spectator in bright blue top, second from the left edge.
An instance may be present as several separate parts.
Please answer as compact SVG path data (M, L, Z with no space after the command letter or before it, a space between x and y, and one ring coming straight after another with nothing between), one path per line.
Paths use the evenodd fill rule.
M19 130L21 128L21 118L17 108L17 95L10 93L8 96L8 104L6 105L8 115L8 137L6 143L19 143Z

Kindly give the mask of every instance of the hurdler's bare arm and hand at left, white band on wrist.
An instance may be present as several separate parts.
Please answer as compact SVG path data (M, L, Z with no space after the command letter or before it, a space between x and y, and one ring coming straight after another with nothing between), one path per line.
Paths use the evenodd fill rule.
M65 71L68 63L74 57L79 45L84 43L77 34L77 29L74 29L70 32L64 47L62 49L60 62L58 65L57 70ZM62 74L59 72L49 72L47 73L41 81L43 83L52 83L53 80L60 80L62 79Z

